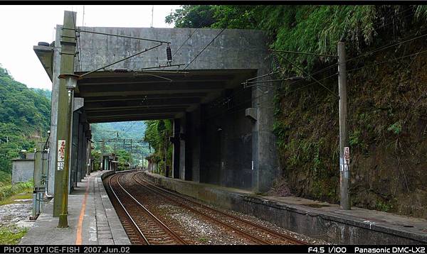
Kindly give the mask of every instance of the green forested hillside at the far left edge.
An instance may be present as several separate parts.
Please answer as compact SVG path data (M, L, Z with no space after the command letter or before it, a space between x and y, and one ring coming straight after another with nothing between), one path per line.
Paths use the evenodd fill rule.
M0 182L10 180L11 161L20 150L46 140L51 103L0 67Z

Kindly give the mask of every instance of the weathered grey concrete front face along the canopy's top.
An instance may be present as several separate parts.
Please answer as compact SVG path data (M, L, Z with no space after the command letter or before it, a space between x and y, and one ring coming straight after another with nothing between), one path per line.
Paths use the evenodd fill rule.
M85 27L85 31L96 31L119 35L131 35L138 38L170 41L172 54L182 45L176 55L174 63L189 63L221 29L199 29L194 33L193 28L102 28ZM58 31L58 29L57 29ZM189 36L194 35L189 38ZM159 43L119 38L93 33L80 33L81 43L81 70L90 71L95 67L107 65L110 62L132 55L144 48L150 48ZM214 40L204 53L199 55L188 67L188 70L226 70L226 69L253 69L258 70L265 62L268 54L266 37L262 31L227 29ZM159 47L143 53L138 57L107 67L106 70L127 68L139 70L142 67L164 65L166 63L165 47ZM75 61L75 70L80 65Z

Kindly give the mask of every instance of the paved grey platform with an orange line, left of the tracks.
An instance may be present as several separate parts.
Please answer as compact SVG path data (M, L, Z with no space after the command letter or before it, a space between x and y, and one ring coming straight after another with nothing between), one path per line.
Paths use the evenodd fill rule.
M57 228L58 218L52 216L51 200L20 244L130 244L105 192L103 173L105 171L93 172L85 177L70 194L68 228Z

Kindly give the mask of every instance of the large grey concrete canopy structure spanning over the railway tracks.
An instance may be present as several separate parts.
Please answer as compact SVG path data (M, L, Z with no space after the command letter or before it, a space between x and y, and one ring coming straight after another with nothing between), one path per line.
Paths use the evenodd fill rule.
M66 16L73 17L75 13L65 11ZM71 29L57 26L52 47L34 46L53 81L51 168L56 168L58 76L63 74L60 62L64 57L61 55L64 38L75 38L72 74L78 75L159 45L135 39L147 38L170 42L172 65L184 65L155 68L167 63L167 43L163 43L79 79L75 101L80 98L81 105L74 114L73 133L77 134L73 136L76 148L71 152L71 160L75 161L71 170L82 167L78 158L85 158L83 152L88 145L80 143L87 143L90 138L89 123L169 118L174 120L173 177L253 192L270 188L278 173L272 133L274 89L243 88L241 84L270 72L266 36L262 31L78 29L82 32L64 36ZM49 177L53 181L54 176ZM81 177L80 173L77 178ZM53 189L48 192L53 194Z

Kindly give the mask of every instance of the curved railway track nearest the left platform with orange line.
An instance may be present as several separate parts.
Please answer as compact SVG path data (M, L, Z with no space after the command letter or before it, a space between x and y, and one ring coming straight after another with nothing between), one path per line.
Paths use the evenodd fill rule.
M122 225L131 243L186 244L186 241L154 216L120 184L122 176L122 173L112 175L108 179L108 186L112 196L115 197L112 200L113 206L116 207L117 215L122 219Z

